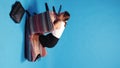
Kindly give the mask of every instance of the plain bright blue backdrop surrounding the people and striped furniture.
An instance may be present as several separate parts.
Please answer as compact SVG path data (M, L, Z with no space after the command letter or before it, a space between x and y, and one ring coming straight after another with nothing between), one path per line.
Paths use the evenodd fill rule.
M20 24L9 17L15 1L0 1L0 68L120 68L120 0L19 0L30 12L47 2L71 14L57 46L36 62L24 58L26 14Z

